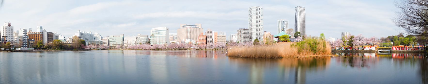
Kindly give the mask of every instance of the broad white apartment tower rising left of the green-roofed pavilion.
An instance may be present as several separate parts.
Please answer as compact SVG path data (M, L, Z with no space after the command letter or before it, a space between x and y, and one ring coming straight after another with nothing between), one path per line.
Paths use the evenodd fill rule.
M263 7L252 6L248 8L248 28L250 40L263 40Z

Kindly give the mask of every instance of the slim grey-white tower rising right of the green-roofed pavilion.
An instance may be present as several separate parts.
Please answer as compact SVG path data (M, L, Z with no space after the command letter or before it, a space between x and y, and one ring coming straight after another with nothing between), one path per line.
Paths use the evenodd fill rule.
M299 31L300 36L306 36L306 8L297 6L294 8L294 31Z

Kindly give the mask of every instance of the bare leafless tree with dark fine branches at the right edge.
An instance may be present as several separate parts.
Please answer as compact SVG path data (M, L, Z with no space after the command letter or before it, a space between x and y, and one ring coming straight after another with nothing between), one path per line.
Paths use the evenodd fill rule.
M402 0L396 6L401 12L394 19L395 25L404 28L409 35L428 37L428 0Z

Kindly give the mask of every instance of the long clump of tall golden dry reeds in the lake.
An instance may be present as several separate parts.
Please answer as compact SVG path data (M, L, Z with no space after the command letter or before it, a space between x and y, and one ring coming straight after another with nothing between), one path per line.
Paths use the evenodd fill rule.
M331 55L330 44L324 40L306 39L301 42L280 42L252 47L237 46L227 56L244 58L282 58Z

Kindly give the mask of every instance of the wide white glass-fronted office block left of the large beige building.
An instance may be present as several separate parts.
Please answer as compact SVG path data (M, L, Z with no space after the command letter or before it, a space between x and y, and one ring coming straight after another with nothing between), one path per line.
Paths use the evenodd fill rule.
M150 30L150 45L168 45L169 28L158 27Z

